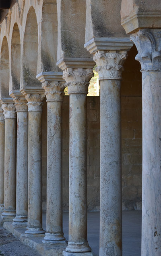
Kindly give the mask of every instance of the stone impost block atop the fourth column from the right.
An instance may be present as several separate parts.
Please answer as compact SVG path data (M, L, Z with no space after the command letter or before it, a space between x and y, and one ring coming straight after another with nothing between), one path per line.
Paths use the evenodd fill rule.
M41 82L45 81L58 81L58 82L64 82L64 79L62 79L63 73L62 72L41 72L39 73L36 78Z

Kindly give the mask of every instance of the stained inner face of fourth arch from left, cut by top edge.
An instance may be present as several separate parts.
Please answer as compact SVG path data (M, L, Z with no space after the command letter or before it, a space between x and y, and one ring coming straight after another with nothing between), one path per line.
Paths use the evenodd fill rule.
M44 0L42 5L41 35L39 37L37 73L59 71L56 65L58 43L58 18L56 0Z

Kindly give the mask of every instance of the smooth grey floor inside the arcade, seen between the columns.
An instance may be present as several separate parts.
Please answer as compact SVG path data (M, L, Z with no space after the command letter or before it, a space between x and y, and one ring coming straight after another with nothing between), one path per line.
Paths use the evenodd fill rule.
M46 214L43 214L45 229ZM141 256L141 211L122 212L123 256ZM68 212L63 214L64 236L68 240ZM99 255L99 212L88 212L88 241Z

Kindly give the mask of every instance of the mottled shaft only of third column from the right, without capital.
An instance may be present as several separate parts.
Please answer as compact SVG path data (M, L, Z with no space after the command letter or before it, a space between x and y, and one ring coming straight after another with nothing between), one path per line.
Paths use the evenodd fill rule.
M86 94L70 95L69 242L87 241Z

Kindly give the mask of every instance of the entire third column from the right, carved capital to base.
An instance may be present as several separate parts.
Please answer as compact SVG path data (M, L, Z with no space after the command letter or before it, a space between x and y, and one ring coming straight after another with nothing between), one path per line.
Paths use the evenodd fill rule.
M87 241L87 92L92 69L63 71L70 94L69 241L64 256L93 255Z

